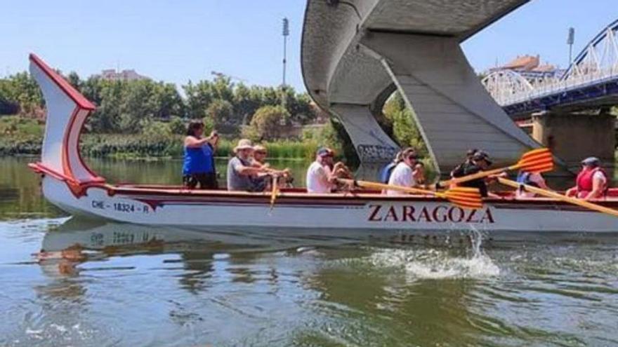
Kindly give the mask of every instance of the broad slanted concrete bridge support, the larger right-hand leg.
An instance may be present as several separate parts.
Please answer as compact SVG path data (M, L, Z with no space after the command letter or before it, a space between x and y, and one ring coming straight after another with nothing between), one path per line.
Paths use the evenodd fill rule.
M452 37L381 33L360 43L379 59L400 90L435 163L448 172L466 149L513 163L537 147L485 91Z

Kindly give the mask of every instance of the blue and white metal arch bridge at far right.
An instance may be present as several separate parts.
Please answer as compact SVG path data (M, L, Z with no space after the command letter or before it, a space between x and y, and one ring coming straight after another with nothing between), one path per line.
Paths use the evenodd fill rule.
M482 80L513 119L538 111L578 111L618 105L618 20L605 27L577 55L563 76L530 81L500 70Z

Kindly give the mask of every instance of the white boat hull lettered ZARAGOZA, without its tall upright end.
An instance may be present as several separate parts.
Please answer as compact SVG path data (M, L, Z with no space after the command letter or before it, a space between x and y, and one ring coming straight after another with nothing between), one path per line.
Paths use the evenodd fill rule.
M325 236L347 233L389 234L477 230L487 233L618 233L618 219L555 200L487 200L479 210L463 210L430 197L379 194L314 196L283 193L271 208L268 193L207 193L90 186L76 196L70 186L45 176L48 200L72 215L153 226L202 230L320 230Z

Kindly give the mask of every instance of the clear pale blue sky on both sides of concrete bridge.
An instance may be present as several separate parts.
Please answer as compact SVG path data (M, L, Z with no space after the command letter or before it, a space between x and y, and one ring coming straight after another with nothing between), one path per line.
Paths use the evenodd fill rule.
M287 83L305 90L300 46L305 0L0 0L0 77L27 69L36 53L80 76L136 69L185 84L212 71L247 84L282 81L282 18L289 18ZM573 55L618 19L618 0L532 0L463 43L477 71L517 55L567 67ZM236 80L238 81L238 80Z

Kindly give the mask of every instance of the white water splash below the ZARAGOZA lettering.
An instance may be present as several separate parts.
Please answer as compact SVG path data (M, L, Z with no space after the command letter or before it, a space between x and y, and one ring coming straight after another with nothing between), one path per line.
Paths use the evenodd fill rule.
M372 266L394 268L409 280L489 278L500 274L500 268L482 251L482 235L473 231L471 252L456 254L452 250L433 248L381 249L369 257Z

